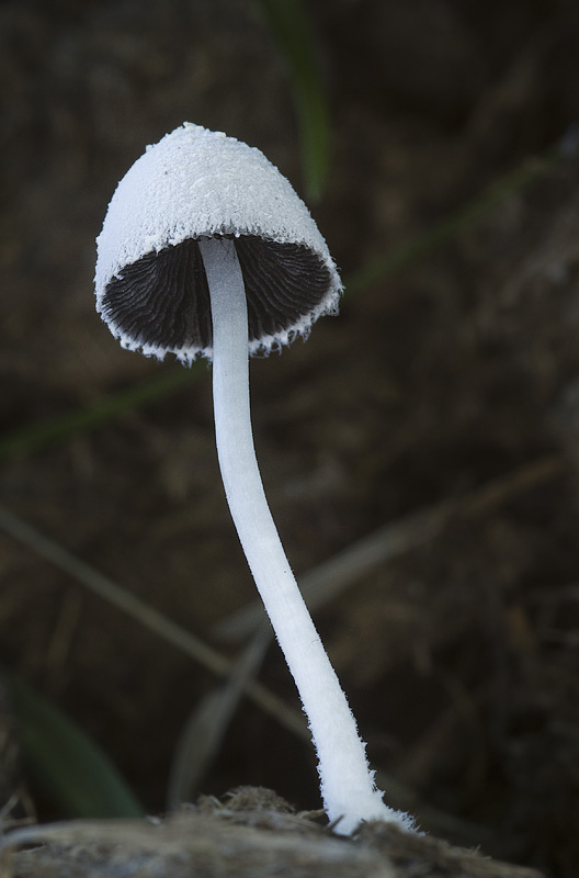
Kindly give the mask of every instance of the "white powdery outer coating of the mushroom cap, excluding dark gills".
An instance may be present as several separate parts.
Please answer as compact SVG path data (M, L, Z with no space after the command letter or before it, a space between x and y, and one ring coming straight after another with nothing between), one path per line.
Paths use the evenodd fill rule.
M118 183L96 238L96 311L106 285L150 252L190 238L254 235L303 245L327 266L330 284L322 301L275 336L254 339L250 353L268 353L307 335L322 314L336 313L342 284L328 246L291 183L257 148L191 122L148 146ZM105 317L106 319L106 317ZM164 349L137 342L107 320L123 347L162 359L175 353L191 362L211 348Z

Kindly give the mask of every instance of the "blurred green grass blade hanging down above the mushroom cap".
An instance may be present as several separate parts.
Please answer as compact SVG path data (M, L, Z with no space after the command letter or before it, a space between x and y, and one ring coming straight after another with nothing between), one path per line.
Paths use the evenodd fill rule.
M319 201L330 165L330 112L318 47L303 0L257 0L287 68L299 131L306 198Z

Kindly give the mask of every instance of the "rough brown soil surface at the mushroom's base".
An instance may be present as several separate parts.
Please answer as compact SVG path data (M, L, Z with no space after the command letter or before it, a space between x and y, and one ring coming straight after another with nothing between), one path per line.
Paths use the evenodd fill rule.
M0 864L10 878L541 878L387 823L337 837L311 817L271 790L242 787L223 802L204 797L162 820L23 830L8 836Z

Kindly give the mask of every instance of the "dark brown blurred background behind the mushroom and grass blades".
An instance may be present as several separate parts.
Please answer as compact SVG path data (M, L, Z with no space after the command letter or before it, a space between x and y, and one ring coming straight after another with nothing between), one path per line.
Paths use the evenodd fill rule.
M454 504L316 612L371 759L433 832L577 875L577 3L311 1L296 8L305 86L307 52L284 47L275 7L0 5L0 502L237 655L212 628L254 589L209 370L90 429L38 425L178 371L123 351L94 312L94 238L146 144L189 120L259 147L347 284L338 318L251 367L258 457L298 578ZM329 166L313 184L304 101L320 83ZM217 678L2 532L0 577L3 665L162 810L175 742ZM260 678L297 707L274 645ZM39 817L59 815L27 781ZM201 791L239 784L319 807L311 748L248 699Z

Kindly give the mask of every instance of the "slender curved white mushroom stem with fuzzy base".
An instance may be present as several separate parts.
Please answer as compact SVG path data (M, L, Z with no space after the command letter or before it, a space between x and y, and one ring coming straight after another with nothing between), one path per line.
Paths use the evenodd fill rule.
M225 493L243 552L296 683L318 754L321 796L337 831L404 818L382 801L365 745L290 569L261 482L249 406L248 317L235 241L202 238L213 319L215 432Z

